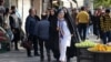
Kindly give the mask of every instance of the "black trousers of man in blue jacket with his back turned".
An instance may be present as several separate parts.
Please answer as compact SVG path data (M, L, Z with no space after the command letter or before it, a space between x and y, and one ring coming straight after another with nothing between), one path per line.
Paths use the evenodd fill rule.
M49 40L44 40L39 38L39 45L40 45L40 58L44 59L44 54L43 54L43 48L46 48L47 50L47 56L50 58L50 45L49 45Z

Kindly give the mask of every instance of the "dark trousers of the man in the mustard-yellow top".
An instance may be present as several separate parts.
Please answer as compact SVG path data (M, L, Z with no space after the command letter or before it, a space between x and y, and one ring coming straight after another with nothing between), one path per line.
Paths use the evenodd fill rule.
M84 41L85 40L85 33L87 33L87 23L79 23L78 30L79 30L81 40Z

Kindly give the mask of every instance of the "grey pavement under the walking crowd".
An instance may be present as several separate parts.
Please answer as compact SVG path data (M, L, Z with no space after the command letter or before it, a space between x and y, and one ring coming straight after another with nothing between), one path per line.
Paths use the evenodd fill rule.
M95 37L90 35L90 40L97 41ZM51 53L52 54L52 53ZM51 55L51 62L56 62L53 56ZM10 51L7 53L0 54L0 62L40 62L40 56L33 56L33 58L27 58L27 52L24 49L20 49L20 51ZM44 59L44 62L47 62L47 59ZM77 58L72 58L71 62L77 62ZM88 61L83 61L88 62Z

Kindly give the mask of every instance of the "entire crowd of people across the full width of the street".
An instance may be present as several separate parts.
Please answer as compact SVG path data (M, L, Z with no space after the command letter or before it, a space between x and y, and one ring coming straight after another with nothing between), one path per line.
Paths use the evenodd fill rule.
M4 1L0 0L0 27L7 31L11 43L14 43L14 50L19 51L18 42L23 35L21 33L22 21L16 14L14 6L10 9L4 8L3 3ZM91 25L93 28L90 28ZM75 38L87 40L88 29L90 31L93 29L91 33L103 43L111 41L111 14L110 9L102 8L95 9L93 14L87 7L72 9L72 12L69 12L67 8L50 8L42 12L40 19L36 9L31 8L24 29L27 42L32 45L32 48L26 48L29 58L32 56L31 50L33 49L33 55L40 56L41 61L44 61L44 52L47 52L50 62L52 51L57 61L65 62L77 55ZM75 32L79 34L75 35Z

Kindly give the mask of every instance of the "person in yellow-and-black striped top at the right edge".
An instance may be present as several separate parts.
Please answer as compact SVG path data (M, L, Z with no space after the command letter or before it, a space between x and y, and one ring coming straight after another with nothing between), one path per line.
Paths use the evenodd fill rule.
M109 9L105 10L104 16L100 17L100 25L103 32L102 41L105 44L111 41L111 16Z

